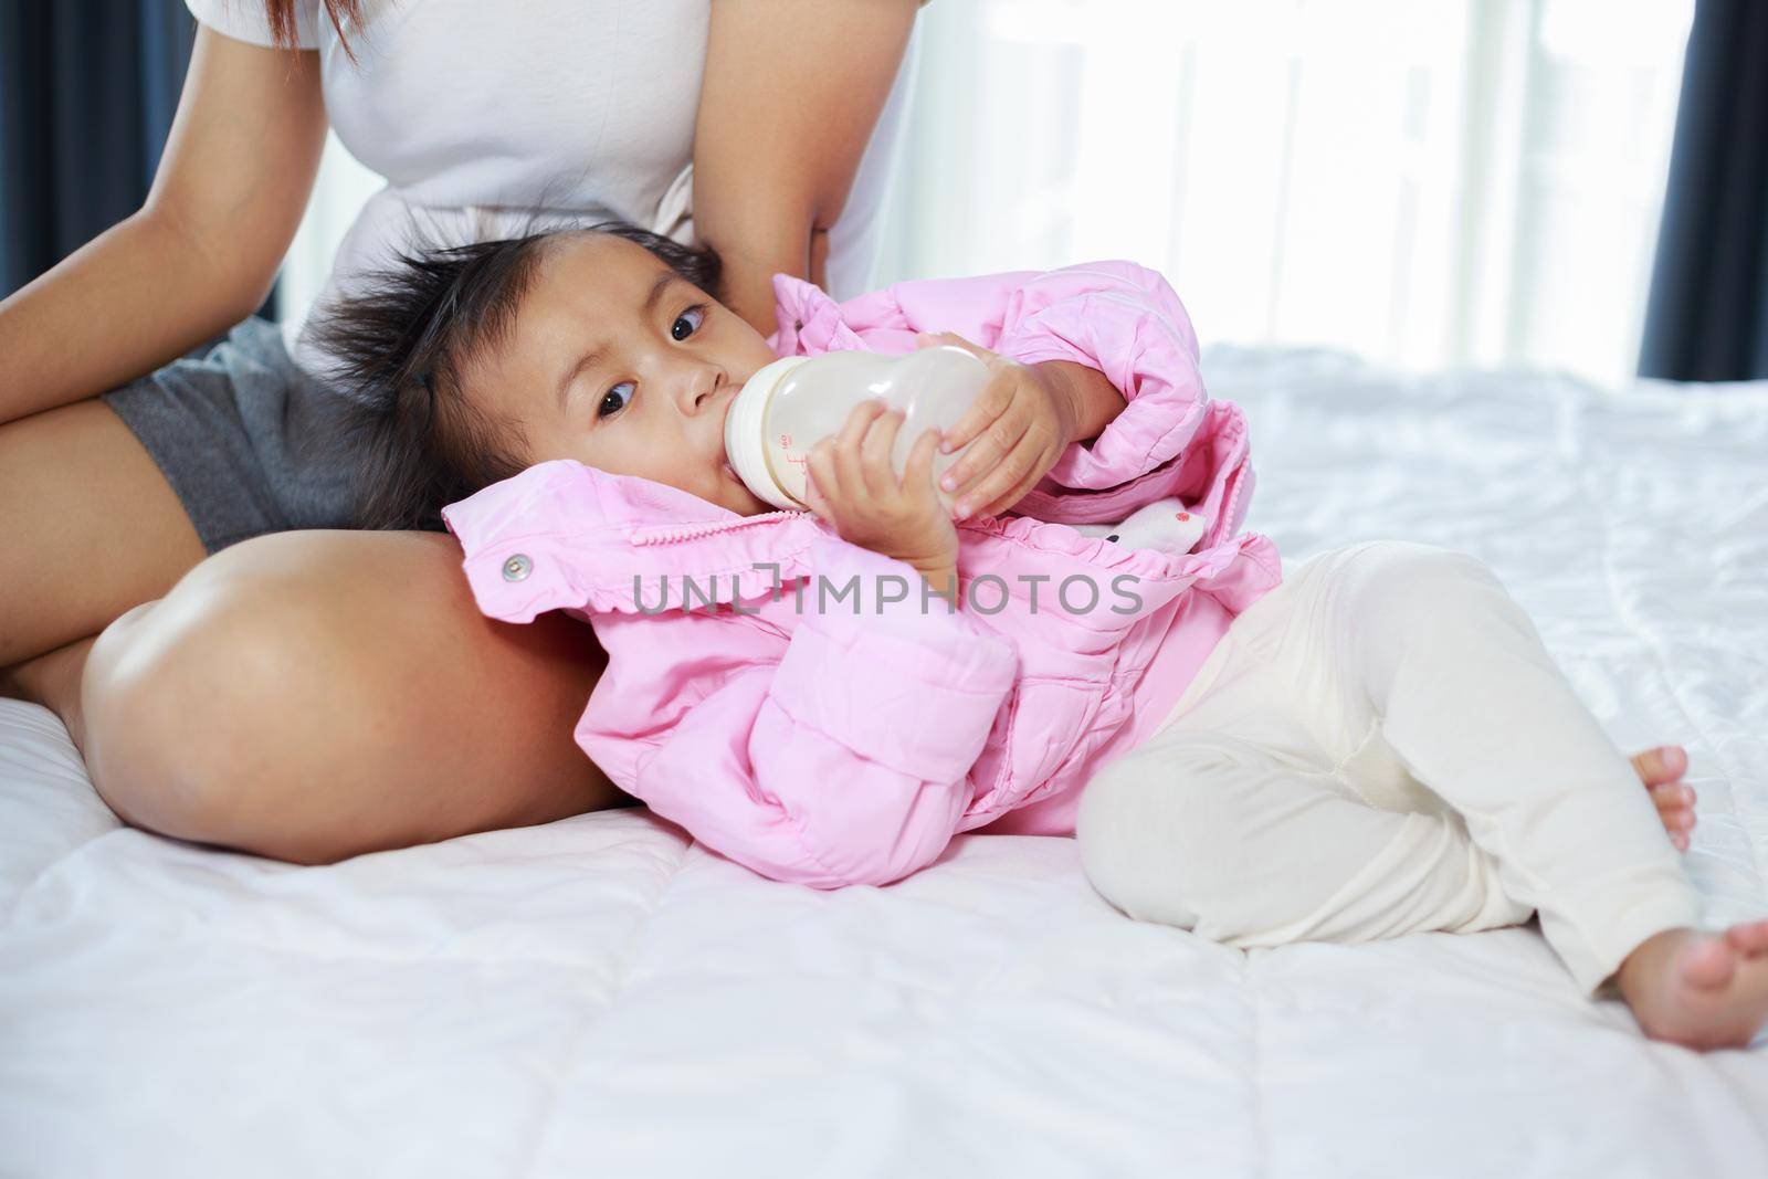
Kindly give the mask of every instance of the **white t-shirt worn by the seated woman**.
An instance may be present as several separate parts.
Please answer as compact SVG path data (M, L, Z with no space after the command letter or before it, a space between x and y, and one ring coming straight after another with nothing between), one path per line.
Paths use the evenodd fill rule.
M297 44L320 53L332 129L387 180L345 235L316 302L389 263L392 249L583 216L613 214L693 244L693 122L711 4L362 0L362 27L347 28L352 62L324 4L297 0ZM186 5L216 32L272 44L262 0ZM836 299L870 285L916 39L829 230ZM285 323L290 354L322 369L301 329Z

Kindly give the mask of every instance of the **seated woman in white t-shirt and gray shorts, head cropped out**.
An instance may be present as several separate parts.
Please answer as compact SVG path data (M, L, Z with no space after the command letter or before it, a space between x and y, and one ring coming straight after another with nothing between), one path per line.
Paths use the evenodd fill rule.
M716 247L764 332L776 270L857 293L918 2L187 0L147 203L0 304L0 695L126 820L299 863L624 802L571 739L589 628L483 619L451 537L315 530L350 472L299 331L171 361L262 302L327 117L389 179L334 286L601 209Z

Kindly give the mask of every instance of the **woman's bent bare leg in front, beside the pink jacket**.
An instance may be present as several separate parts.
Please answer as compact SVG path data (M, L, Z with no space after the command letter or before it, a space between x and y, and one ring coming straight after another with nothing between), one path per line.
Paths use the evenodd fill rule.
M87 764L118 815L297 863L628 802L571 730L582 622L484 619L453 537L281 532L196 566L87 663Z

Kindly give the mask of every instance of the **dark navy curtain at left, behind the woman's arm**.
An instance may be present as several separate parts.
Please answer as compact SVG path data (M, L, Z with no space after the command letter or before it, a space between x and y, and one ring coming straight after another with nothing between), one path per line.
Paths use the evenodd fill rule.
M0 0L0 297L141 207L194 37L180 0Z

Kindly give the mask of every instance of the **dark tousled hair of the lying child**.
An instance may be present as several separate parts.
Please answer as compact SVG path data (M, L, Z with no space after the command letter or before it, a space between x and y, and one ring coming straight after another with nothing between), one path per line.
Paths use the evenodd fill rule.
M509 336L546 242L608 233L644 246L714 299L721 263L624 221L401 253L315 316L315 339L347 394L341 444L362 529L440 532L442 509L518 474L520 435L474 407L461 375Z

